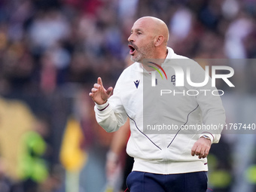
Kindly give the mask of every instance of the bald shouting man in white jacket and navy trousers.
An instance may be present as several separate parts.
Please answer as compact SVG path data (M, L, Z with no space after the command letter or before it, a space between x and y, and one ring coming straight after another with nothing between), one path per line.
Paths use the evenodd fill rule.
M171 81L164 81L176 93L185 93L186 90L186 93L191 91L198 94L163 97L159 96L157 90L153 92L158 95L151 92L152 89L149 91L145 88L148 80L156 77L154 70L172 72L175 69L172 65L177 62L183 70L193 69L191 78L202 82L198 77L204 74L203 69L196 62L175 54L167 47L168 40L169 31L162 20L155 17L136 20L128 38L133 65L120 75L113 96L110 96L113 88L105 90L101 78L98 78L89 94L96 103L96 120L106 131L118 130L126 122L126 117L130 118L131 136L126 151L135 160L133 172L127 178L127 186L132 192L206 191L206 157L212 142L220 139L220 131L199 129L195 133L194 130L186 132L184 126L202 124L201 117L203 124L208 126L225 123L221 99L211 94L206 96L206 92L200 93L201 87L192 87L191 90L187 84L176 87L170 84ZM163 81L158 78L157 83L156 78L155 84L163 84ZM215 89L209 84L205 88ZM156 126L162 120L175 125L178 130L164 134L145 132L148 122Z

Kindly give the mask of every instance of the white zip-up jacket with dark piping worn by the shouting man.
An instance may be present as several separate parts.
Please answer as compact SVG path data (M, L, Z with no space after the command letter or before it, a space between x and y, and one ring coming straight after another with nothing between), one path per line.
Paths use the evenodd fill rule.
M178 56L169 47L168 59L173 59L172 63L180 66L184 74L190 68L191 81L203 82L205 71L197 62ZM164 63L162 67L167 75L175 75L174 70ZM105 104L95 106L96 120L107 132L114 132L126 122L127 116L130 117L131 136L126 151L134 157L134 171L158 174L207 171L207 159L191 156L191 148L202 135L209 136L213 143L221 137L225 114L220 97L212 94L215 87L210 84L191 87L187 82L184 82L184 87L175 87L168 80L170 87L165 90L172 93L160 96L163 87L158 84L167 80L160 78L158 73L156 77L157 86L148 90L143 85L145 81L151 83L151 73L145 71L139 62L126 68L114 87L113 96ZM208 125L207 129L200 126L202 123ZM154 130L156 125L158 130ZM166 129L168 125L169 130ZM161 127L166 130L160 130ZM190 130L189 127L198 129Z

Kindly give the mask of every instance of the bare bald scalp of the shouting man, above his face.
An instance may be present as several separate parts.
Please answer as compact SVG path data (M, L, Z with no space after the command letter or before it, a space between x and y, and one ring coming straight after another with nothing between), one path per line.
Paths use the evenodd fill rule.
M136 23L142 23L144 26L147 26L148 30L151 30L152 35L163 35L164 44L167 44L169 40L169 29L166 26L166 23L163 20L158 19L157 17L141 17L139 20L136 20Z

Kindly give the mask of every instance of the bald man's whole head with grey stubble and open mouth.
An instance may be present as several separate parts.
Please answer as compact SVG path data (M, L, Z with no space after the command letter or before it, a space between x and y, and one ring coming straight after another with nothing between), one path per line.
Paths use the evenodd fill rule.
M156 17L142 17L133 24L128 38L130 55L133 62L145 58L166 58L169 30L163 20Z

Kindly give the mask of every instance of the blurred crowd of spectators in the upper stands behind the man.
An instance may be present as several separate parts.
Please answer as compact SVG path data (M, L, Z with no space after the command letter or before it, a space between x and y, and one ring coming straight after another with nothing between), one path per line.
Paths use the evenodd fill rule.
M0 91L52 93L69 82L113 84L136 18L160 17L190 58L254 58L254 0L2 0Z

